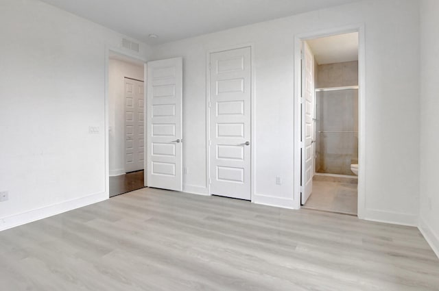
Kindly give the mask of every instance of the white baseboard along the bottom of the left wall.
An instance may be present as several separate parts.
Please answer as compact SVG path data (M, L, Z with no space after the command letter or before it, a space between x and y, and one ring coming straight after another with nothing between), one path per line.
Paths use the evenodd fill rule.
M49 216L54 216L62 212L74 210L76 208L84 207L86 205L104 201L106 199L108 199L108 193L101 192L97 194L91 194L86 197L81 197L78 199L72 199L54 205L41 207L20 214L5 216L3 218L0 218L0 231L10 229L12 227L18 227L19 225L24 225L26 223L32 223L32 221L47 218Z

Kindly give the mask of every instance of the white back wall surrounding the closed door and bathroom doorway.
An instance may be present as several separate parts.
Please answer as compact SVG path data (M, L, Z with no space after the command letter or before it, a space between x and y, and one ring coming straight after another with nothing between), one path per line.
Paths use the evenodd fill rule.
M206 193L206 51L251 42L255 71L255 201L293 199L296 34L366 27L365 218L416 225L419 191L419 16L412 0L371 0L238 27L154 47L154 60L184 60L183 182ZM275 176L283 179L276 186Z

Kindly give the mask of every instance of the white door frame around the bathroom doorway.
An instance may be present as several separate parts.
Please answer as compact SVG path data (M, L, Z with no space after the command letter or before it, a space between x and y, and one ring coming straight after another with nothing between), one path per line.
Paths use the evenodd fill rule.
M311 38L322 38L336 34L358 32L358 106L359 106L359 136L358 136L358 163L361 164L358 172L358 206L357 216L364 219L366 212L366 38L364 23L333 27L294 36L294 209L300 209L300 86L301 86L301 44Z

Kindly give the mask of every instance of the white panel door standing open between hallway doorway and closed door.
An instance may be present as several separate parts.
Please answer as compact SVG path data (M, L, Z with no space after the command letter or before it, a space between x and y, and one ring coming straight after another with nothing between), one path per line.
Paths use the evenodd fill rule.
M182 58L147 63L147 185L182 190Z

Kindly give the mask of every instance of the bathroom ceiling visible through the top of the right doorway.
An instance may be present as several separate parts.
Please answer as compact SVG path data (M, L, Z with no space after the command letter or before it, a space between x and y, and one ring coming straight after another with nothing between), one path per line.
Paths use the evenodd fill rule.
M358 60L358 33L338 34L307 40L318 64L335 64Z

